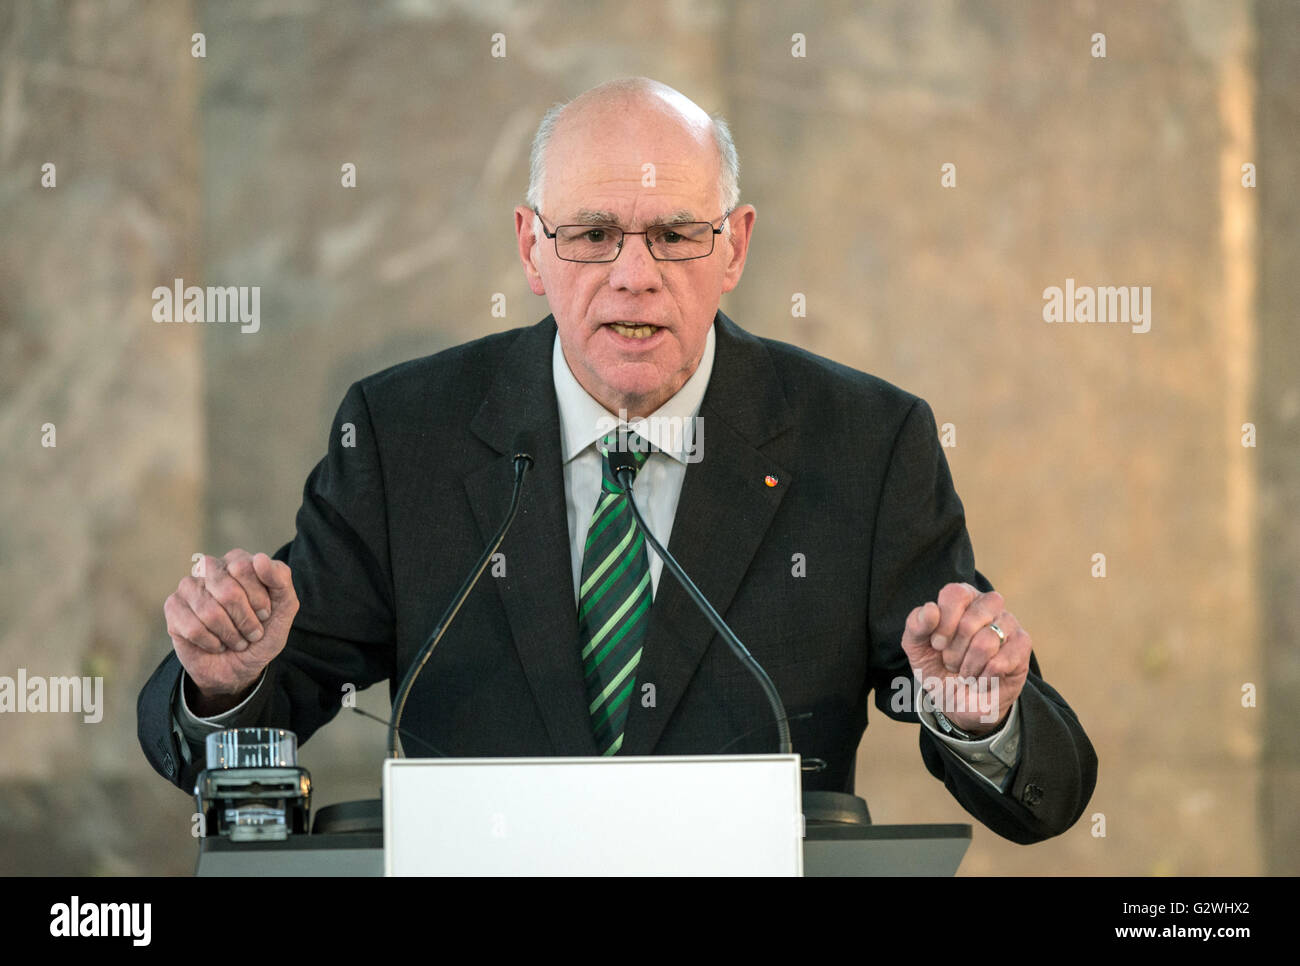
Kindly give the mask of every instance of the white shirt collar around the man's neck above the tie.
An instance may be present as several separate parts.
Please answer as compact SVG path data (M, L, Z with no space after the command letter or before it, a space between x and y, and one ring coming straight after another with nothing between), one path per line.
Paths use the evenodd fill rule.
M686 463L686 455L692 450L694 416L699 413L699 404L703 402L708 377L714 371L714 326L710 325L705 339L705 354L699 358L699 365L690 378L649 419L628 420L629 429L682 464ZM560 410L562 456L564 463L568 463L597 439L616 429L620 420L578 384L564 359L558 332L551 352L551 376L555 380L555 400Z

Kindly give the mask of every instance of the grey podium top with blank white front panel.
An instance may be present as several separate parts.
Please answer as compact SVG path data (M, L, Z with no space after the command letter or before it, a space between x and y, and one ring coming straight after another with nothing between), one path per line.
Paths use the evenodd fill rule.
M202 876L953 875L968 824L872 826L797 755L389 759L385 798L283 841L200 839Z

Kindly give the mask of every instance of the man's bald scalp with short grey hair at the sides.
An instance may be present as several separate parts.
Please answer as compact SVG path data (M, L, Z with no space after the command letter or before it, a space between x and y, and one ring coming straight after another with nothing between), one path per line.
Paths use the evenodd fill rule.
M727 122L722 117L710 116L690 98L664 83L647 77L632 77L593 87L546 112L533 137L526 196L529 207L543 207L552 140L590 142L603 138L616 142L645 137L651 131L655 137L668 133L670 137L694 142L702 161L707 157L705 163L718 168L722 211L731 211L740 204L740 161Z

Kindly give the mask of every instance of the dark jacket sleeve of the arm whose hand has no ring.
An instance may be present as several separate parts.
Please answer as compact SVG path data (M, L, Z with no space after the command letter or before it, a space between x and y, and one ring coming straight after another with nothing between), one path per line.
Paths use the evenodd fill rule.
M298 533L276 559L294 575L299 610L283 651L266 667L240 724L289 728L306 742L342 707L346 685L364 690L393 676L394 602L384 468L363 387L354 385L329 451L303 489ZM182 667L168 654L136 703L140 748L153 768L190 789L203 750L173 728Z

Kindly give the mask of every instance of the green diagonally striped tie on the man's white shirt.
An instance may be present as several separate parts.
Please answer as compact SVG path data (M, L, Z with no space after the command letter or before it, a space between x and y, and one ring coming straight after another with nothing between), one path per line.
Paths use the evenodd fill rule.
M633 434L628 441L636 441L632 455L637 467L645 465L645 443ZM604 458L603 478L582 550L577 602L588 711L602 755L618 754L623 748L637 662L650 621L650 560L628 498L610 469L610 447L615 445L612 434L598 443Z

